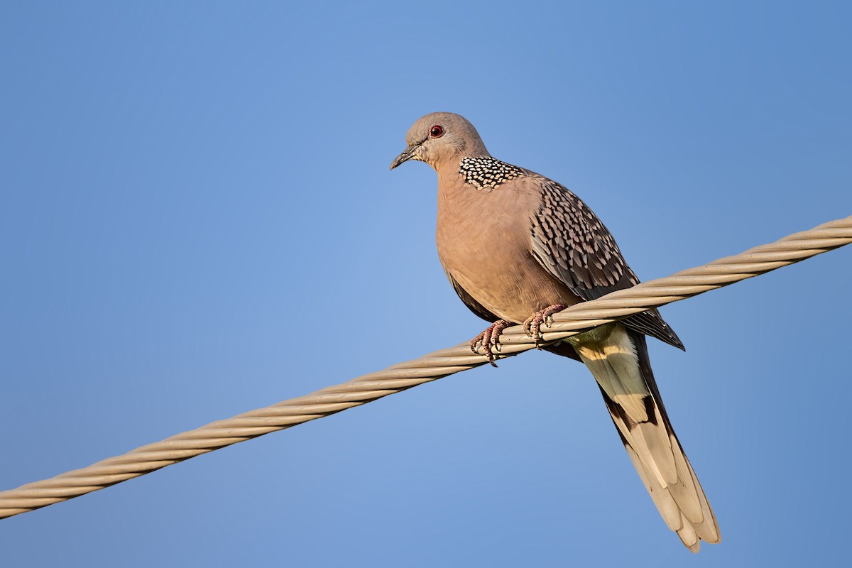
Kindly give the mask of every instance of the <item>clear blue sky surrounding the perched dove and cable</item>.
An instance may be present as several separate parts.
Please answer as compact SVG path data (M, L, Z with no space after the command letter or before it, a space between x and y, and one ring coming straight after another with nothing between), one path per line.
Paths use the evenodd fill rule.
M842 3L3 3L0 488L475 336L435 253L459 112L641 278L852 214ZM848 560L852 249L664 309L722 526L693 557L589 372L527 353L0 522L4 566Z

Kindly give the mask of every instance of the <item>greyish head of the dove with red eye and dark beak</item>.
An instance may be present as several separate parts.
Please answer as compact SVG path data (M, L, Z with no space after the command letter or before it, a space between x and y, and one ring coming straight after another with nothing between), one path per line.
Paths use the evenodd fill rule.
M490 156L474 125L466 118L452 112L432 112L419 118L406 134L408 147L397 156L390 169L417 160L435 169L444 164L458 167L466 156Z

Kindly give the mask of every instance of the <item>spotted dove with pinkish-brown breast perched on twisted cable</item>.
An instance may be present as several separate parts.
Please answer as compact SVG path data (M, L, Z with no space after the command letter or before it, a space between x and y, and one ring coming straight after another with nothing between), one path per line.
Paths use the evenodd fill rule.
M417 160L437 172L440 262L462 301L491 322L471 348L492 364L509 325L523 324L538 340L553 313L639 283L580 198L492 158L465 118L428 114L408 130L406 143L390 168ZM589 367L665 524L698 552L702 540L719 542L719 527L666 415L645 336L683 348L655 309L544 348Z

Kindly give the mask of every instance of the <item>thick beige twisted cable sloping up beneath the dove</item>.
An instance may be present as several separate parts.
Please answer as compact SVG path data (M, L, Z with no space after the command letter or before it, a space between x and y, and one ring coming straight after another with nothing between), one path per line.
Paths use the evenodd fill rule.
M575 336L631 313L734 284L850 242L852 216L830 221L810 231L797 232L772 244L746 250L740 255L728 256L668 278L650 280L598 300L569 307L554 315L553 324L545 330L544 341ZM501 344L499 357L509 357L535 347L534 341L524 334L520 325L504 330ZM0 491L0 519L67 501L190 457L329 416L486 363L486 358L471 353L465 342L429 353L420 359L394 364L388 369L325 387L306 396L210 422L195 430L143 445L124 456L102 460L88 468L75 469L51 479L21 485L17 489Z

